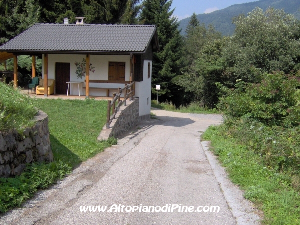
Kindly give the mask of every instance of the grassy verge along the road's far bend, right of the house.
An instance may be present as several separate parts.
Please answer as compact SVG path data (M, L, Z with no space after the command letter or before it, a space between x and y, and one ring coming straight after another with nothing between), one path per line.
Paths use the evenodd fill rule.
M179 108L176 108L175 105L172 104L172 102L166 102L166 103L160 103L157 101L152 100L151 101L151 107L153 108L159 108L166 111L175 111L175 112L183 112L183 113L196 113L196 114L218 114L221 113L216 108L214 109L208 109L200 107L199 103L194 102L187 106L180 106Z

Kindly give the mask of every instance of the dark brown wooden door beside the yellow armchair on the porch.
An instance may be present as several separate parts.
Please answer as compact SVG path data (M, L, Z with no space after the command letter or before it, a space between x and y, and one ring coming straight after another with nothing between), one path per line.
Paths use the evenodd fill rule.
M56 94L66 94L67 83L70 81L70 63L60 63L55 64L55 88Z

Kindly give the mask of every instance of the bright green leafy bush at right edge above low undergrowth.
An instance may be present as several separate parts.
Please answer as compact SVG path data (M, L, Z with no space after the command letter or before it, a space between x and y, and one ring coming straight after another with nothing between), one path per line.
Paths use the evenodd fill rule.
M283 72L264 74L258 84L237 80L234 89L217 83L226 93L220 97L218 108L231 118L254 118L268 126L297 126L300 124L300 109L296 106L299 84L296 77Z

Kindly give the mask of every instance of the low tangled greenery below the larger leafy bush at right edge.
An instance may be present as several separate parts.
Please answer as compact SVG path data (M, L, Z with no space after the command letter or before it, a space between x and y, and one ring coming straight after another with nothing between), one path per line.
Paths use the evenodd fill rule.
M249 118L225 121L226 133L248 150L258 154L264 163L278 172L300 169L300 126L284 128L266 126Z

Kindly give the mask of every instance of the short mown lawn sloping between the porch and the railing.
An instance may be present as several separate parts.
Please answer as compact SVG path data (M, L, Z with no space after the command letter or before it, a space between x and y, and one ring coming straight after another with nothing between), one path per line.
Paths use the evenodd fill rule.
M75 166L111 146L97 140L106 122L107 101L35 99L33 104L49 116L55 160Z

